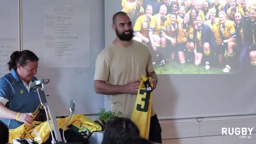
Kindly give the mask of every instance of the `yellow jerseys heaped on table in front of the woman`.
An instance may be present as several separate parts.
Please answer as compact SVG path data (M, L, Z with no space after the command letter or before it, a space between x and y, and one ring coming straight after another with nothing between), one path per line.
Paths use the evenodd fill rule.
M64 129L64 127L67 124L68 118L57 118L57 124L59 129ZM78 129L81 128L81 126L86 127L89 132L93 131L101 131L102 128L99 124L96 124L93 122L90 118L87 116L77 114L72 115L70 122L68 125L72 124L73 126L77 127ZM50 121L51 128L52 127L52 121ZM34 139L39 144L47 141L50 135L49 126L47 124L47 121L45 122L38 122L33 121L31 126L27 124L22 124L20 127L17 127L16 129L9 130L9 143L12 144L12 140L15 140L17 138L26 138L26 139Z

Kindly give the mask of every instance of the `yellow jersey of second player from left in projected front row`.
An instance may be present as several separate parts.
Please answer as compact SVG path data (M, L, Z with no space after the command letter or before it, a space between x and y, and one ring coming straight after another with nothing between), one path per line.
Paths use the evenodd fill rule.
M154 15L150 22L150 26L148 30L153 32L153 34L155 35L159 35L162 29L162 26L164 26L165 20L166 20L166 16L164 16L164 19L161 20L160 14Z

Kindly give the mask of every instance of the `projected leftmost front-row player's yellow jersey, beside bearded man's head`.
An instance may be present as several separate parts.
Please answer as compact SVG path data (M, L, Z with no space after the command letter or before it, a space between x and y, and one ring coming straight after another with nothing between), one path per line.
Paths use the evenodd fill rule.
M148 37L148 28L151 22L152 16L147 20L146 15L142 15L137 18L134 24L134 34L141 33L144 37Z

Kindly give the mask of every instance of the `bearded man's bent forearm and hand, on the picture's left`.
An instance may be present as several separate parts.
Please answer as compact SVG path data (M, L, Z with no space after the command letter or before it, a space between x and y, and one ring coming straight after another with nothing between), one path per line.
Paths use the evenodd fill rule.
M140 87L140 81L130 81L125 85L107 84L106 81L94 80L94 90L103 95L118 95L122 93L136 94Z

